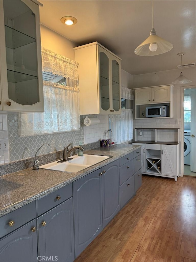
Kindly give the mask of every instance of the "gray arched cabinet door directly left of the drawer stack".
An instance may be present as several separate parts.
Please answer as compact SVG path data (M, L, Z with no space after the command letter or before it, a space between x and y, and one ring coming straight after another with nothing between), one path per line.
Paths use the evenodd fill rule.
M103 227L120 210L119 193L119 160L104 166L102 168L102 203L103 203Z

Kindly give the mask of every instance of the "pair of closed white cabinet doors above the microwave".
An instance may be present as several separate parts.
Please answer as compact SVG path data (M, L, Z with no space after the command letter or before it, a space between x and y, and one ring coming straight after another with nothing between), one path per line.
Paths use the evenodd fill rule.
M157 104L171 101L171 86L135 89L135 104Z

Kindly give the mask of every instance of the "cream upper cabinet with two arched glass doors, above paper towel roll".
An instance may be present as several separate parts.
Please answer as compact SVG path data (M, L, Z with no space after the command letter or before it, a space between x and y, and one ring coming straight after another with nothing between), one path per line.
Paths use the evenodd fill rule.
M74 48L80 115L121 114L121 59L98 42Z

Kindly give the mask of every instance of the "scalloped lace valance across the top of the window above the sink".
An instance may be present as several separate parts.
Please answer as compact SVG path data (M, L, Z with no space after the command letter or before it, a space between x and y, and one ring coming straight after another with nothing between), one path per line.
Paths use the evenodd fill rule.
M78 86L78 63L42 47L42 69L69 81L69 86Z

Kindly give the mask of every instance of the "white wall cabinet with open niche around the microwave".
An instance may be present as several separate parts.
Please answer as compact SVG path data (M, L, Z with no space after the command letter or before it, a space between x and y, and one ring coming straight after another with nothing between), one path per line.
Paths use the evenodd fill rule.
M172 85L134 88L134 90L135 119L145 119L147 107L159 107L163 105L168 106L168 117L173 117Z

